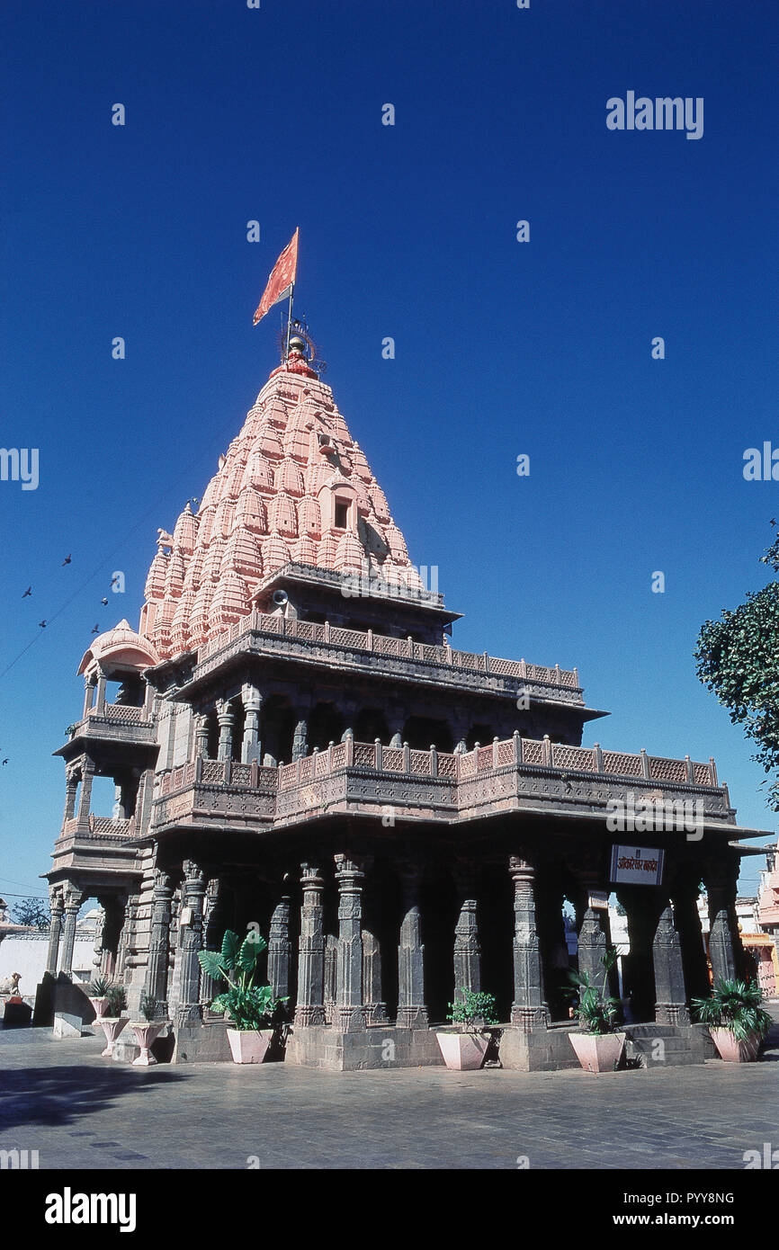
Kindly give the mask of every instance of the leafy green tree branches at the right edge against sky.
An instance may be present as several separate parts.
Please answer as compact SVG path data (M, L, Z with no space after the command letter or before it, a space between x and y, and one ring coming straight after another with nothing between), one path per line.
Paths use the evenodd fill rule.
M779 572L779 526L774 541L760 556ZM705 621L695 648L696 672L730 712L734 725L759 750L753 759L765 772L779 770L779 581L764 590L748 591L733 611L723 609L716 621ZM779 779L768 790L768 805L779 811Z

